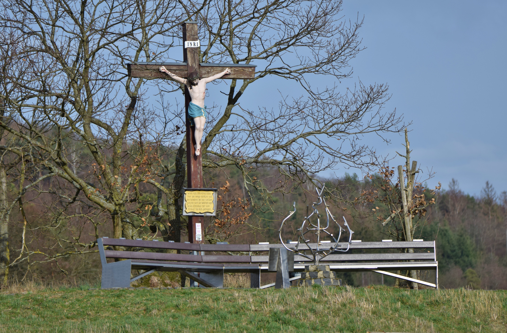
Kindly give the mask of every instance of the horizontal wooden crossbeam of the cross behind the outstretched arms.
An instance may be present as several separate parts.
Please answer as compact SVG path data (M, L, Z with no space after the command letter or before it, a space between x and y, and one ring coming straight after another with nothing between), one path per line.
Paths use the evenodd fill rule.
M128 76L132 78L143 79L167 79L167 75L159 71L160 66L174 73L180 78L187 78L186 62L135 62L127 64ZM199 76L209 78L215 74L224 71L226 68L231 70L221 79L242 79L248 80L255 78L256 65L234 64L234 63L201 63L199 66Z

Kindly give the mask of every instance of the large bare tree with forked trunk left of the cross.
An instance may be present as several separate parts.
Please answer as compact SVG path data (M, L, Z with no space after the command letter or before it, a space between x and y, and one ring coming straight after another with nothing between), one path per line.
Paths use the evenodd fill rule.
M165 1L3 3L2 19L25 45L18 50L23 65L6 73L10 86L2 94L15 118L0 126L29 142L47 157L40 162L50 172L107 210L114 237L137 237L126 205L135 201L137 184L150 178L153 158L158 161L149 141L157 135L147 133L155 120L138 105L143 80L132 83L125 62L150 60L153 45L167 51L171 28L187 17L171 16L175 12L175 3ZM41 130L48 127L50 132ZM127 141L137 144L128 151ZM74 146L89 152L95 181L73 166Z

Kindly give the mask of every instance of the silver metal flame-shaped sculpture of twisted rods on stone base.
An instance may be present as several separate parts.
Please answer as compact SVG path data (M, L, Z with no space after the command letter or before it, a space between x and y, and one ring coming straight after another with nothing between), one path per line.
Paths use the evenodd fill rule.
M330 255L331 253L333 253L335 251L342 251L342 252L348 251L348 249L350 247L351 240L352 240L352 234L354 232L352 230L350 230L350 228L347 224L347 220L345 219L345 217L343 217L344 227L346 227L349 232L349 239L347 242L347 248L340 249L339 247L342 247L342 244L339 244L340 238L342 236L342 232L344 232L346 230L338 224L338 222L336 221L333 214L331 214L331 211L329 210L329 205L325 202L325 199L322 195L324 193L324 187L322 187L320 192L317 188L315 190L317 191L318 200L317 200L317 202L313 203L313 205L312 205L313 211L309 215L308 215L308 206L307 206L307 211L306 211L307 216L305 216L305 218L303 220L303 224L301 225L301 228L299 228L297 230L297 231L301 231L301 236L299 236L298 242L297 242L297 244L295 244L296 247L295 248L292 248L292 246L287 247L287 245L285 244L285 242L282 239L282 234L281 234L283 225L285 224L285 221L287 219L291 218L291 216L294 215L294 213L296 212L296 202L294 202L294 211L291 211L290 214L283 219L280 229L278 230L278 234L280 236L281 243L283 244L283 246L287 250L292 251L295 254L305 257L309 260L312 260L315 263L315 265L318 265L319 261L322 260L322 258ZM322 203L324 204L325 214L327 217L326 222L325 222L325 226L324 226L324 224L321 223L321 221L320 221L321 215L319 214L319 212L317 210L317 206L319 206ZM328 229L330 227L330 217L331 217L331 220L338 226L339 231L338 231L337 237L328 231ZM315 218L316 218L316 221L315 221ZM312 219L313 219L313 221L312 221ZM316 238L315 245L313 245L313 244L310 245L310 239L307 235L308 233L315 234L315 238ZM330 243L330 245L324 245L322 243L323 237L321 237L321 234L323 234L324 237L329 236L333 239L333 241ZM302 245L302 244L304 244L304 245ZM305 253L307 251L309 251L310 253L309 254Z

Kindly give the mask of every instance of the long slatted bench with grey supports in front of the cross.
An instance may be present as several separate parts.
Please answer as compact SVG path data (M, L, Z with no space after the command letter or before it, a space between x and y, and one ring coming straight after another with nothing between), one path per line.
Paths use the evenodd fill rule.
M268 272L269 255L257 255L267 252L270 248L283 247L282 244L192 244L162 241L129 240L116 238L99 238L97 245L102 263L102 288L129 287L132 281L155 271L180 272L197 282L201 287L222 287L224 273L249 272L250 287L263 288L260 277ZM294 248L296 244L285 244ZM342 246L347 246L343 243ZM130 249L159 249L189 251L193 254L160 253L144 251L115 251L104 249L104 246L123 246ZM316 244L300 244L299 249L315 248ZM319 244L319 247L327 246ZM425 249L424 252L400 253L399 249ZM387 253L354 253L369 250L383 250ZM414 242L352 242L347 252L330 254L320 261L329 265L333 271L373 271L380 274L399 277L428 286L438 288L438 262L434 241ZM210 252L236 252L241 255L211 254ZM244 254L243 254L244 253ZM123 259L107 263L107 258ZM295 272L305 269L312 262L300 255L294 255ZM294 266L292 266L294 265ZM143 270L131 278L131 270ZM435 270L435 283L408 278L386 271L396 270ZM291 280L297 279L294 277ZM274 284L273 284L274 285Z

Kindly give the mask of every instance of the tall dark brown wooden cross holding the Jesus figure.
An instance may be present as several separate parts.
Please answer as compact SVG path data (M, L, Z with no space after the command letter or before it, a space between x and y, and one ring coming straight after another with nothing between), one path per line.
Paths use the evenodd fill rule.
M135 62L127 64L128 75L132 78L168 79L159 68L164 66L180 78L209 78L229 68L231 73L221 79L248 80L255 78L255 65L231 63L199 63L200 43L197 36L197 22L186 21L183 27L183 62ZM195 155L195 128L189 119L190 93L185 86L185 124L187 129L187 187L202 189L202 154ZM196 237L196 224L203 226L204 216L188 215L189 242L203 243L204 235ZM200 238L200 240L198 240Z

